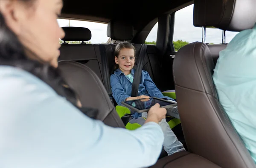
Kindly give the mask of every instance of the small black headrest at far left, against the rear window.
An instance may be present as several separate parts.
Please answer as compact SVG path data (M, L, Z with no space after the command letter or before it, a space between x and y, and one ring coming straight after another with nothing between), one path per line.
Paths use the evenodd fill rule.
M62 27L65 32L63 41L89 41L92 38L92 33L84 27Z

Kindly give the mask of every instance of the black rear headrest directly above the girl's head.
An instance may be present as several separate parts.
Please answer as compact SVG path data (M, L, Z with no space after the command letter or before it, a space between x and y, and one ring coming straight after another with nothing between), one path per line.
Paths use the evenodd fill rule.
M131 23L111 20L108 23L107 36L113 40L129 41L133 38L134 27Z

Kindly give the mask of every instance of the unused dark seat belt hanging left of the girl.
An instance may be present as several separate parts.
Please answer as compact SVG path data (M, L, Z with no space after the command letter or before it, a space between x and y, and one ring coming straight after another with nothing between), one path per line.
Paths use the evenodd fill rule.
M104 45L104 44L99 45L99 51L100 51L101 60L102 60L102 78L103 78L105 88L108 92L108 96L111 99L111 101L113 102L112 90L111 90L111 85L110 85L109 68L108 68L107 49L105 46L107 46L107 45ZM110 45L110 49L111 49L111 53L113 53L111 45Z

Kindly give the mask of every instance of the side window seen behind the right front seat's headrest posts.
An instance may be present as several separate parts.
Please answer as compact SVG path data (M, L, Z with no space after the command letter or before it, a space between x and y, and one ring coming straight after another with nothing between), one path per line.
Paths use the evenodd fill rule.
M195 41L202 41L202 28L193 25L194 4L175 12L175 26L173 44L177 51L182 46ZM226 32L226 43L229 43L238 32ZM206 43L222 43L222 30L216 28L206 29Z

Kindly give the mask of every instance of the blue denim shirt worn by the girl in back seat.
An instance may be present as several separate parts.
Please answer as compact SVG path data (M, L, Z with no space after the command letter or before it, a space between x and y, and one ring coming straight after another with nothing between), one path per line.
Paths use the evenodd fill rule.
M134 77L135 70L131 70L131 75ZM116 103L121 105L122 101L125 101L126 98L131 97L132 83L126 77L126 75L120 70L117 69L114 74L110 77L111 90L113 98L116 100ZM150 78L147 71L142 71L140 86L138 90L138 96L145 95L149 97L164 98L167 100L173 100L167 96L163 96L163 93L157 88L152 79ZM141 113L132 114L133 118L138 118L142 116Z

